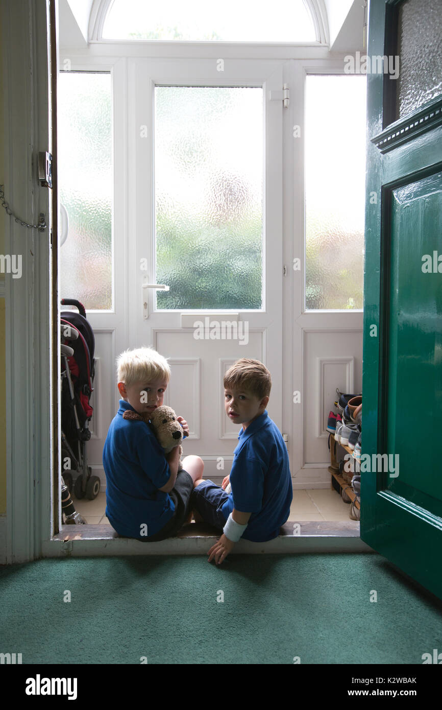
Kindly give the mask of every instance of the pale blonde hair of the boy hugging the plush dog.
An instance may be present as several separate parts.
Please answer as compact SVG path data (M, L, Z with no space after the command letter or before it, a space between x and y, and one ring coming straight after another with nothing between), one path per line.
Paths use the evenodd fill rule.
M170 380L169 363L152 348L125 350L118 356L116 368L117 382L123 382L126 387L142 380Z

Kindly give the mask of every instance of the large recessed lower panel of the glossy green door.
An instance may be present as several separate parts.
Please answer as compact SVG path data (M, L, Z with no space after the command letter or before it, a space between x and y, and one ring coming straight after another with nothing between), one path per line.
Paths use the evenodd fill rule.
M388 487L442 517L442 173L392 190L391 204L385 450L400 456Z

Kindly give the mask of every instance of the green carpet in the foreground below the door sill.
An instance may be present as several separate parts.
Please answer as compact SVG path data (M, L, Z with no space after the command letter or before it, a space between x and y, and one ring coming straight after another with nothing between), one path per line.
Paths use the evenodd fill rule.
M420 665L442 650L442 602L374 554L42 559L0 567L0 609L0 652L23 664Z

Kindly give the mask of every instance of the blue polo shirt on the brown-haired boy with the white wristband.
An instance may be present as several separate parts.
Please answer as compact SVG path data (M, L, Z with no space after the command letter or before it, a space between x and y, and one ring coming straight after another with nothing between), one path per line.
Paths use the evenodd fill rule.
M287 523L293 498L289 456L282 434L267 410L241 429L233 452L231 494L221 508L226 519L233 508L250 515L241 539L272 540Z

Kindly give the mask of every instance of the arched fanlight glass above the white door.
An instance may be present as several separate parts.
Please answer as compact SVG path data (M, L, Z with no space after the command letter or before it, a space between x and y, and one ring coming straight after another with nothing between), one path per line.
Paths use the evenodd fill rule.
M315 42L303 0L115 0L103 37L133 40L215 40L228 42Z

